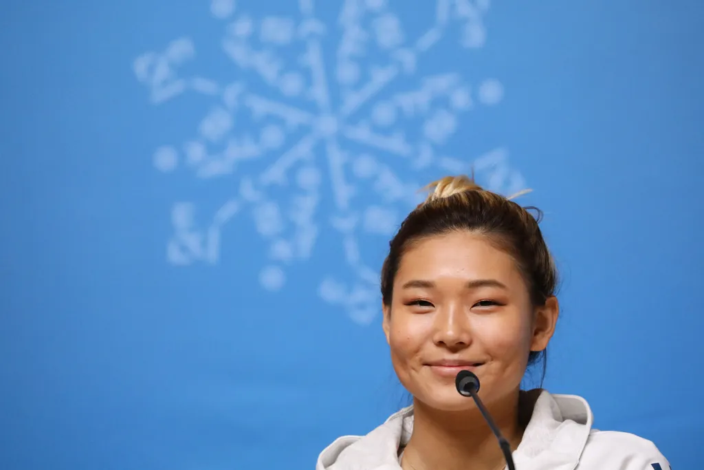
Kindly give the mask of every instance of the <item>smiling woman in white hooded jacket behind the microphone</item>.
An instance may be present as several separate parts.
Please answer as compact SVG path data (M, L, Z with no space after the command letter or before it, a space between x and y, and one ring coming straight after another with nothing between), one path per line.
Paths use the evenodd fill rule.
M538 221L465 176L429 187L382 267L384 333L413 406L365 436L335 440L316 470L503 469L474 400L455 387L462 369L481 381L479 397L517 469L669 469L650 441L591 428L581 397L520 390L527 366L544 359L559 313Z

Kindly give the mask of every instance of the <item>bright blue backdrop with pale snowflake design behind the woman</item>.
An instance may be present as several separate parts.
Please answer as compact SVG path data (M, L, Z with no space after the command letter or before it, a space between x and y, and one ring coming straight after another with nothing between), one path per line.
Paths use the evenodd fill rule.
M403 402L417 189L546 212L546 386L704 457L704 4L0 6L2 469L311 469Z

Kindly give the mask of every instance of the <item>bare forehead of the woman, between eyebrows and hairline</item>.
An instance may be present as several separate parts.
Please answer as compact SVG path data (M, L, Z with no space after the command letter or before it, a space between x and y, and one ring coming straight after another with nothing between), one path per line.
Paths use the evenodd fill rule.
M514 259L486 235L465 231L436 235L411 244L401 258L396 280L441 278L496 279L522 283Z

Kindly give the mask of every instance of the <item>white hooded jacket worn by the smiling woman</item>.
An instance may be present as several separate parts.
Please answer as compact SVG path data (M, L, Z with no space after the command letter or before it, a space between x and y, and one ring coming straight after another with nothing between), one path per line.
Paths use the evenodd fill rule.
M670 463L649 440L598 431L591 428L592 421L584 398L543 390L513 452L516 469L670 470ZM406 445L411 433L413 407L408 407L365 436L335 440L320 453L315 470L400 470L398 446Z

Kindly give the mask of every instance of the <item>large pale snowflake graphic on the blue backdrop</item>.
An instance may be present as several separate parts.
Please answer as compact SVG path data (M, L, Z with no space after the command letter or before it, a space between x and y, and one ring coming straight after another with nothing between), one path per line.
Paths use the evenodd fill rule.
M492 190L522 190L522 175L503 148L471 162L441 151L464 113L501 102L501 82L470 86L459 73L424 73L410 89L391 86L418 75L418 64L451 25L460 48L484 46L489 0L436 0L434 7L434 18L424 18L427 29L410 39L389 1L344 0L334 25L341 39L333 44L334 61L325 61L332 28L316 16L313 0L299 0L296 15L260 20L240 12L234 0L212 0L210 14L225 23L222 51L239 80L184 78L182 68L196 58L189 37L137 57L134 73L153 104L187 92L211 101L194 137L156 149L156 169L185 168L201 180L237 177L232 197L206 225L196 223L193 202L172 206L168 261L217 263L222 227L249 211L269 247L260 285L279 290L287 266L310 258L327 224L339 235L340 264L352 280L323 276L318 295L367 325L379 311L379 274L365 264L360 237L392 235L422 197L417 190L431 169L473 168Z

